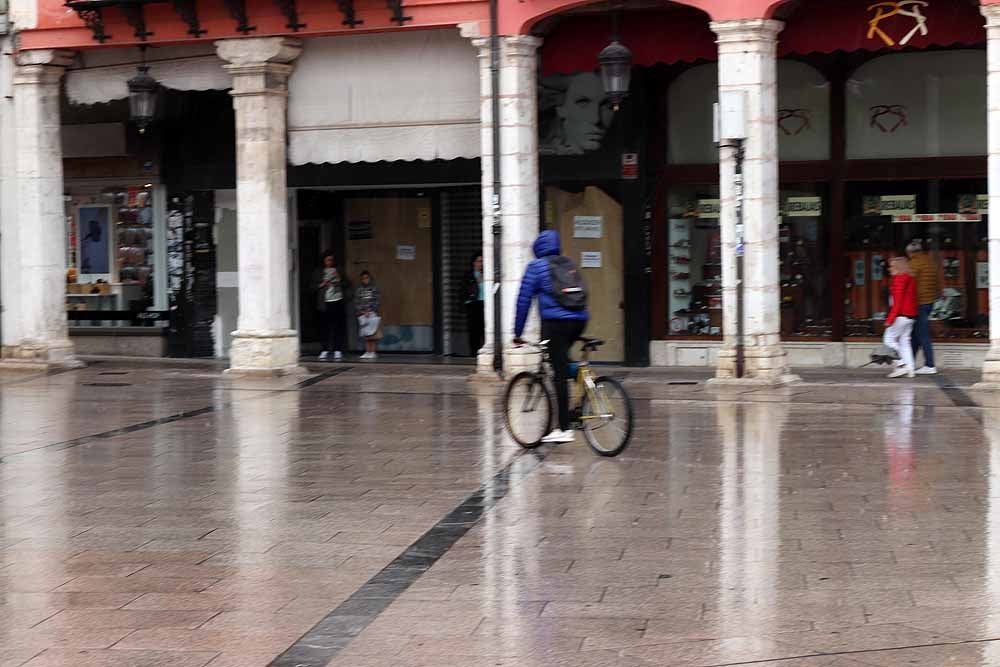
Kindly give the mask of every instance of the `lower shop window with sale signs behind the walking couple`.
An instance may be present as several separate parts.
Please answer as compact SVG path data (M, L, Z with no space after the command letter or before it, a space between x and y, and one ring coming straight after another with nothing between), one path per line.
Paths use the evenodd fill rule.
M917 289L921 301L933 302L932 337L988 339L985 192L985 180L849 184L844 258L849 338L881 335L889 309L886 262L921 239L933 267L927 278L932 287Z

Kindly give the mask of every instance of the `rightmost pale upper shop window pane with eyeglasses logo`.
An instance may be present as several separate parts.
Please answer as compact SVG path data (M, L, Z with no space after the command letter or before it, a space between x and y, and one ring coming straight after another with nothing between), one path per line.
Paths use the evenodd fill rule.
M896 53L847 82L850 159L983 155L986 52Z

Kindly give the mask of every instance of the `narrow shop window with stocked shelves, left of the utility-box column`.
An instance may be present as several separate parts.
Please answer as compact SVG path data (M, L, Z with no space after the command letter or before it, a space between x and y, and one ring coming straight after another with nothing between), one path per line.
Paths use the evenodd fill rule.
M675 188L667 216L667 331L722 335L722 246L718 185Z

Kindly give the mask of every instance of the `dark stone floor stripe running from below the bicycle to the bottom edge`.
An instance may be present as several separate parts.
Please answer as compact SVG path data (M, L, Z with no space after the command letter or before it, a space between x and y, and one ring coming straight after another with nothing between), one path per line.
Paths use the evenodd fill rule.
M522 450L515 454L514 459L503 470L365 582L351 597L272 660L268 667L328 665L379 614L462 539L484 513L506 496L517 478L530 474L544 459L545 455L537 450Z

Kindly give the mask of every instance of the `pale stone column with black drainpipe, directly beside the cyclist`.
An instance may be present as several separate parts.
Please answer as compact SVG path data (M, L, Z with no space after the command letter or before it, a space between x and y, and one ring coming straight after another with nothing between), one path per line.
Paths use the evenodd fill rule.
M483 273L486 292L486 345L479 351L479 372L493 373L493 107L490 40L472 40L479 49L480 100L482 104ZM534 254L538 236L538 89L537 37L513 35L500 38L500 173L502 269L500 284L504 370L510 375L537 363L526 348L511 347L514 313L524 269ZM538 340L536 315L528 320L524 337Z

